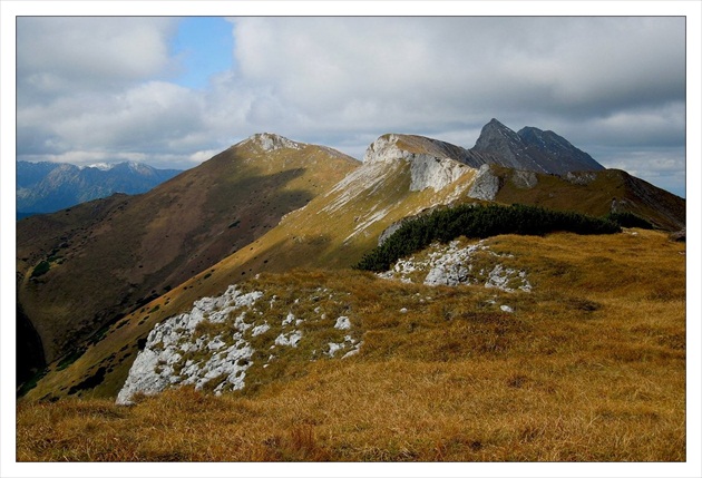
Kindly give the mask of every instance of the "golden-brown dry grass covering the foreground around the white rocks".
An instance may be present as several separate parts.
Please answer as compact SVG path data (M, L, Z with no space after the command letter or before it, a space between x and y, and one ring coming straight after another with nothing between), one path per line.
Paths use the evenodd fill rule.
M488 240L530 293L264 274L248 286L348 293L361 353L221 398L22 403L17 458L684 461L685 245L631 232Z

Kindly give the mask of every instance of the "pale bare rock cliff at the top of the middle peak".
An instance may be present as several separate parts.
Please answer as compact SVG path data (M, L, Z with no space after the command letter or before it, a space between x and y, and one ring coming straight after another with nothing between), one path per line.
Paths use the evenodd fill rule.
M410 165L410 191L442 189L470 167L460 157L462 148L421 136L384 135L369 146L363 163L404 160Z

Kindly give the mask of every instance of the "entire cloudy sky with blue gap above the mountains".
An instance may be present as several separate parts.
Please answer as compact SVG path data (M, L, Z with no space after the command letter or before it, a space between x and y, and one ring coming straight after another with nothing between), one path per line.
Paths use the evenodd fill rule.
M550 129L685 196L684 17L22 17L17 159L188 168L254 133L361 158Z

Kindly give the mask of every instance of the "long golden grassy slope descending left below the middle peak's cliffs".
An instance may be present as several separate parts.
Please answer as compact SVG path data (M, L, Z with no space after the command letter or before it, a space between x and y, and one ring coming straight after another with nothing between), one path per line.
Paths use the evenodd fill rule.
M66 396L71 387L89 380L100 368L106 371L103 381L87 393L115 397L136 358L138 340L145 338L156 323L189 310L202 296L221 294L230 284L260 272L355 264L392 222L421 211L426 204L448 201L456 192L465 189L474 176L467 173L438 193L430 188L409 192L409 166L403 162L390 168L380 165L378 169L355 169L345 179L348 183L342 183L343 187L319 195L248 246L117 322L101 341L89 347L70 367L59 370L57 363L50 365L47 375L26 398ZM369 182L374 182L371 187L368 187ZM379 211L387 211L387 215L371 223L369 220L377 217ZM359 227L365 224L368 227Z

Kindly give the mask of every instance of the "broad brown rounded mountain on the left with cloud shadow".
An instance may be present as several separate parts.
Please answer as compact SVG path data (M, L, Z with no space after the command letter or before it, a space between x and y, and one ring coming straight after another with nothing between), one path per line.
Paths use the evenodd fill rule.
M253 242L358 165L325 147L255 135L147 194L21 221L18 308L51 362ZM41 261L50 270L31 277Z

